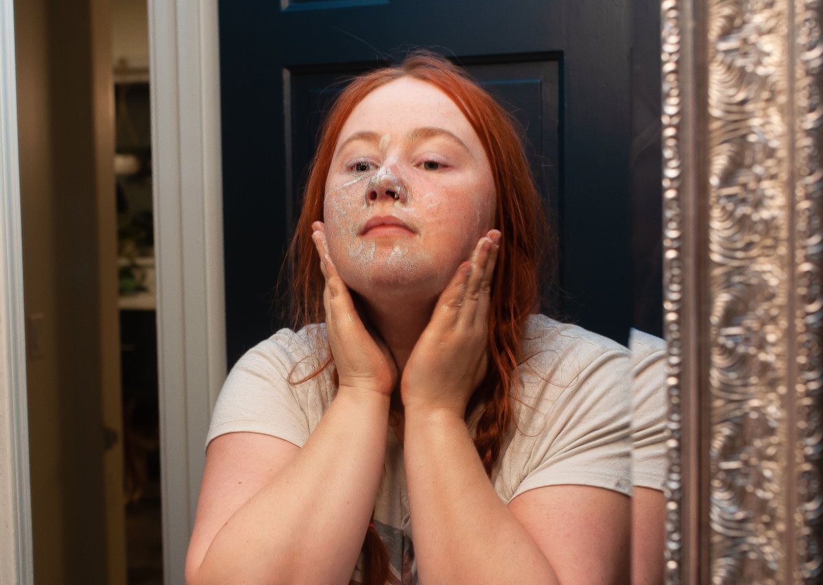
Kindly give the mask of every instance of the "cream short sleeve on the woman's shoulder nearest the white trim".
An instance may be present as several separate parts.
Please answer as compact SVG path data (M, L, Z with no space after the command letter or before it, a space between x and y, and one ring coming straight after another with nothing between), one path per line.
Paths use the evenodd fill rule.
M253 347L231 369L212 412L207 444L221 434L268 434L302 447L311 431L305 384L290 383L301 355L289 330ZM299 393L300 392L300 393Z

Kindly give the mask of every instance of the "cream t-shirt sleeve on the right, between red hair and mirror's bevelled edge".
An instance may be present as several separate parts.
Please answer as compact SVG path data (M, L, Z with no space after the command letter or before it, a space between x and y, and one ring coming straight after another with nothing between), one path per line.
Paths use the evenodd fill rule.
M523 375L505 499L548 485L630 495L629 352L580 327L559 327L565 330Z

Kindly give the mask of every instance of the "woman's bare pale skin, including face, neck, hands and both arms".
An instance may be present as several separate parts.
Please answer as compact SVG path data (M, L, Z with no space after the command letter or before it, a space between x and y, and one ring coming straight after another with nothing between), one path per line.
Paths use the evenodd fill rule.
M313 226L337 395L302 448L251 433L210 443L187 583L348 583L388 432L403 443L421 583L628 581L629 499L558 485L507 505L464 420L487 367L493 197L477 135L434 86L393 81L352 112L328 174L326 223ZM380 216L404 225L365 229ZM392 397L404 414L389 429Z

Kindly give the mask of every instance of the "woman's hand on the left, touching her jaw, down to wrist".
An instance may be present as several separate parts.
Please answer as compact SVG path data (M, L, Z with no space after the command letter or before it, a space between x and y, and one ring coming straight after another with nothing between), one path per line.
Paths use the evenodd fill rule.
M323 290L326 332L340 388L369 390L391 396L398 381L397 364L379 334L365 327L360 318L349 287L328 255L323 222L315 221L312 228L312 239L320 256L320 269L326 279Z

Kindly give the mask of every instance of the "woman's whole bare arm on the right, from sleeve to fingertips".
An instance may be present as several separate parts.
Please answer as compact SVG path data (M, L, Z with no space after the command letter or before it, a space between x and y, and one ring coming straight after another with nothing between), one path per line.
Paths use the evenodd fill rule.
M402 378L404 457L424 583L627 583L630 501L579 485L506 506L463 413L486 370L496 245L478 244L444 291Z

